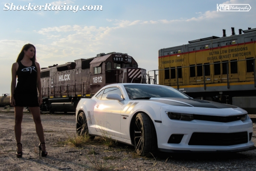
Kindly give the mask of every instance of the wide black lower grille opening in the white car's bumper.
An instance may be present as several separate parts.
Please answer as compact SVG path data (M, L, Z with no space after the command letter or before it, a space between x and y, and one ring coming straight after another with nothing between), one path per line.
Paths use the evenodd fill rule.
M210 133L194 132L189 140L189 145L200 146L232 146L248 142L247 132Z

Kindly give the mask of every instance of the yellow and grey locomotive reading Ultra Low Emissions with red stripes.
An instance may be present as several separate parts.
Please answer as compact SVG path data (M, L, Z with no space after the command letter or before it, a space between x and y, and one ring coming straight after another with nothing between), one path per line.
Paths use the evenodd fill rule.
M256 28L158 51L158 81L193 98L233 104L256 114ZM156 70L154 70L156 72ZM156 75L154 76L156 80ZM154 81L156 84L156 81Z

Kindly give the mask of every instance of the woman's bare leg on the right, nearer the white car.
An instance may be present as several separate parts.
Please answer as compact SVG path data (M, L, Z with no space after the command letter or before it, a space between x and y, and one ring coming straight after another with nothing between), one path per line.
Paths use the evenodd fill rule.
M29 107L35 122L35 131L41 143L44 143L44 129L41 123L40 108L39 107ZM41 144L42 151L46 151L45 144Z

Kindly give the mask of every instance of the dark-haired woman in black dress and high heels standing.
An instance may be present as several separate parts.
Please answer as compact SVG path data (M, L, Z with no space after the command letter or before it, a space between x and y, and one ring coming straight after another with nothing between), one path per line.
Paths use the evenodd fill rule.
M35 46L26 44L23 46L17 60L12 64L12 85L10 103L15 107L15 137L17 142L18 158L22 157L21 122L23 118L23 107L29 107L35 122L35 130L40 140L39 155L47 156L44 143L44 130L40 118L39 106L43 102L40 80L40 65L35 59ZM16 77L18 78L16 86ZM16 88L15 88L16 86ZM39 92L39 97L38 97Z

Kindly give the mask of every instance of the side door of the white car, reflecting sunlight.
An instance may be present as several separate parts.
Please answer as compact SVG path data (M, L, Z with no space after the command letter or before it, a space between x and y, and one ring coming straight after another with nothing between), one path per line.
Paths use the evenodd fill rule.
M104 90L101 99L94 107L95 129L105 135L121 137L120 115L123 103L107 99L108 94L118 94L123 98L119 87L109 87Z

